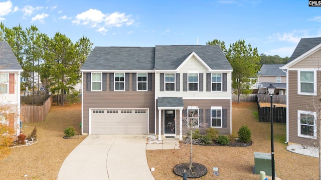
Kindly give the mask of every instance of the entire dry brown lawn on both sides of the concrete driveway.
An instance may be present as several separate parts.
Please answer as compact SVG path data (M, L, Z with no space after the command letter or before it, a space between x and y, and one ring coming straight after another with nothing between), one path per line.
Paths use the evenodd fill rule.
M246 124L252 131L253 144L248 147L194 146L194 161L208 168L208 173L196 179L259 179L252 174L254 152L270 153L270 125L258 122L253 111L256 103L233 103L232 129L237 134ZM57 179L59 169L68 154L85 138L64 139L64 129L73 125L80 132L81 105L53 105L46 120L24 123L23 132L31 133L36 126L39 142L12 149L11 155L0 161L0 179ZM27 126L27 127L25 127ZM295 154L286 150L285 125L274 125L275 170L281 179L317 179L318 158ZM181 149L147 150L149 167L156 180L182 179L173 173L176 164L187 162L189 146ZM213 175L213 167L219 168L219 176ZM27 177L24 175L27 174ZM270 178L269 178L270 179Z

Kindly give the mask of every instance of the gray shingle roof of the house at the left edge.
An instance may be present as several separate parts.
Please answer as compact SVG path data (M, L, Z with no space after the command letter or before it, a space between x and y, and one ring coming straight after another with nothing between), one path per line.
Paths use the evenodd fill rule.
M10 45L6 41L0 41L0 71L5 70L19 70L21 71L21 65L18 62L17 57L12 51Z

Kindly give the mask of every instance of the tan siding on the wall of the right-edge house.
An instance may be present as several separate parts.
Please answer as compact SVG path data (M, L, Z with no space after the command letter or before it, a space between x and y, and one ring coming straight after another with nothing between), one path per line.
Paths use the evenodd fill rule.
M288 72L288 110L289 110L289 142L298 144L311 143L311 139L297 136L297 110L307 110L307 104L311 100L311 95L297 94L297 71ZM319 82L317 82L319 84ZM319 92L318 92L319 94Z

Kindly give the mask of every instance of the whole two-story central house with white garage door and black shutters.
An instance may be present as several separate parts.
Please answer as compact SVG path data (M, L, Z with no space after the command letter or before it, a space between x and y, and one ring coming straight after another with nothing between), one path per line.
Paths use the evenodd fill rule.
M232 67L218 45L95 47L81 72L82 133L182 139L183 119L231 133Z

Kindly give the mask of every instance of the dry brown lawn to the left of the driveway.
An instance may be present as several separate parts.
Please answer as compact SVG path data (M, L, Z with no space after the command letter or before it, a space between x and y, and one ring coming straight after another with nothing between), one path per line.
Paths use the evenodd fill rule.
M12 148L0 161L0 179L57 179L65 158L85 138L64 139L64 129L72 125L80 133L80 122L81 104L66 104L53 105L44 122L23 123L26 135L36 126L39 141Z

